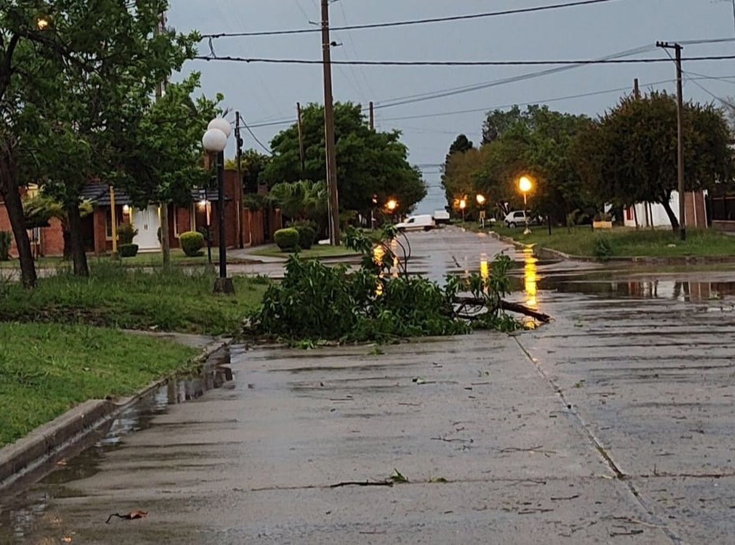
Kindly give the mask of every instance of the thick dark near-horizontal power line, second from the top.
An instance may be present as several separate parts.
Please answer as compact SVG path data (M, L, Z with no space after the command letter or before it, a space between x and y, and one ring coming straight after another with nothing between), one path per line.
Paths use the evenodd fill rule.
M197 60L218 60L234 63L268 63L268 64L306 64L323 65L317 59L273 59L264 57L194 57ZM735 55L709 55L702 57L686 57L682 61L700 60L732 60ZM542 65L604 65L604 64L652 64L668 63L668 59L659 57L645 59L588 59L588 60L332 60L333 65L349 66L542 66Z

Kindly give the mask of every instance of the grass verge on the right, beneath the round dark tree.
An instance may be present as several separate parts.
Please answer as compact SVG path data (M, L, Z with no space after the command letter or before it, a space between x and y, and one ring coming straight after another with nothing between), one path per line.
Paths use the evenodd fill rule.
M689 229L686 241L670 230L631 229L617 227L612 231L592 231L590 227L576 227L567 232L565 227L555 227L551 236L544 226L531 227L531 235L523 235L523 229L507 229L499 225L490 227L500 235L515 241L538 244L544 248L559 250L572 255L595 256L595 246L604 238L612 247L613 257L719 257L735 255L735 237L720 232ZM670 245L675 245L669 247Z

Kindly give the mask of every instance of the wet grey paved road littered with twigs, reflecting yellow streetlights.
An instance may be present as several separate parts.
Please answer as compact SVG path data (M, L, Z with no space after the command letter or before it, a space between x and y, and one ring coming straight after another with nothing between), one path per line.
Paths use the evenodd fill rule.
M456 229L412 246L437 279L506 249L553 323L235 346L232 382L171 385L1 496L0 543L733 543L731 271L538 263Z

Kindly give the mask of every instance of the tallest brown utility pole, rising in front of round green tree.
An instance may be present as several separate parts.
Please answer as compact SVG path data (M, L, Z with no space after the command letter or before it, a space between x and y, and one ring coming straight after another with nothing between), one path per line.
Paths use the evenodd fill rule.
M337 196L337 150L334 144L334 96L331 90L331 40L329 0L321 0L322 57L324 64L324 137L326 140L326 183L329 188L329 238L340 246L340 201Z

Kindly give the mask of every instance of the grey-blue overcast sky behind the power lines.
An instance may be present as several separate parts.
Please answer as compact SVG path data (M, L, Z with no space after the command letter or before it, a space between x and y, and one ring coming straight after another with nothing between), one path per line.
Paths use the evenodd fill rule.
M465 15L519 7L556 4L562 0L338 0L331 4L331 24L368 24ZM320 18L319 0L170 0L169 24L179 31L202 33L257 32L301 29ZM506 15L472 21L334 32L343 43L333 49L334 60L551 60L592 59L656 40L698 40L735 36L731 0L617 0L607 4L572 7L540 13ZM218 55L320 59L320 35L312 33L265 38L214 40ZM202 43L201 54L209 54ZM688 46L684 57L735 54L735 43ZM661 57L654 50L638 57ZM334 67L334 98L377 105L379 129L401 129L418 165L442 163L448 146L460 132L480 139L483 114L458 113L434 117L453 110L502 107L538 102L556 110L596 115L612 107L620 95L605 93L578 99L549 101L559 97L614 88L632 88L639 78L642 88L650 82L673 79L673 63L646 65L595 65L558 74L527 79L457 96L380 107L397 97L491 82L547 67ZM201 71L203 91L225 95L224 105L240 110L248 124L295 117L295 103L323 101L320 65L263 65L191 61L184 71ZM734 76L731 81L700 79L711 93L735 96L735 60L685 63L685 71L706 76ZM693 76L692 76L693 77ZM670 91L673 82L656 85ZM712 101L712 96L686 82L686 98ZM268 145L282 127L254 129ZM245 133L245 147L257 143ZM426 167L431 193L437 193L438 168ZM438 193L441 193L440 190Z

